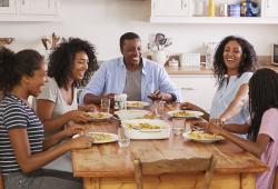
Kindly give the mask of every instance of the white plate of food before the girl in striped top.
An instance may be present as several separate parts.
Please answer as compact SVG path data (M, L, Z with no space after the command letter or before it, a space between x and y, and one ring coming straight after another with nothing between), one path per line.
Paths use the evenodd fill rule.
M77 138L80 135L75 135L72 138ZM118 136L110 132L87 132L86 136L93 138L93 143L109 143L118 140ZM101 139L101 137L105 137L105 139Z

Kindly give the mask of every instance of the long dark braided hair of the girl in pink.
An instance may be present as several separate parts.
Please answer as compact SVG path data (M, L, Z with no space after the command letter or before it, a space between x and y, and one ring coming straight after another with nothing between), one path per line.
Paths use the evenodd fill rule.
M249 108L251 127L248 137L256 141L261 125L261 117L270 108L278 109L278 74L264 68L254 73L249 80Z

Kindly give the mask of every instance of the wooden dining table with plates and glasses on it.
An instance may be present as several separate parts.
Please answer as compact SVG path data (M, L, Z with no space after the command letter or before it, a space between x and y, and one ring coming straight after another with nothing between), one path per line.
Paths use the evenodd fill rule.
M161 117L171 125L166 106ZM187 125L196 120L187 119ZM120 122L115 119L93 121L85 127L88 131L117 133ZM255 189L258 173L268 167L251 153L228 140L201 143L173 136L160 140L131 140L129 147L120 148L117 142L93 145L90 149L72 150L73 176L82 178L83 189L136 189L133 159L179 159L202 157L214 153L217 166L212 189ZM143 178L145 189L198 188L202 173L162 175Z

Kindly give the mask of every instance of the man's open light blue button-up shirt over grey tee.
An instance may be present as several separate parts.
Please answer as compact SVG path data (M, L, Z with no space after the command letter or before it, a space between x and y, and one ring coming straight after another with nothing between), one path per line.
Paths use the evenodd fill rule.
M80 94L80 103L83 102L83 97L87 93L96 96L102 93L122 93L126 84L126 76L127 69L122 57L102 63ZM150 102L151 100L147 96L157 89L161 92L175 93L177 101L181 100L180 92L170 80L165 68L157 62L142 58L141 100Z

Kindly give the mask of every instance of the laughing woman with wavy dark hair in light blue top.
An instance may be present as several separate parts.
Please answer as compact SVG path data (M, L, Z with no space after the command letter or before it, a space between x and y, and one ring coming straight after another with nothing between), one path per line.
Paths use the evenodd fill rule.
M181 103L181 109L192 109L205 113L203 118L220 119L228 123L245 123L248 113L248 81L255 71L257 56L254 47L240 37L226 37L218 46L214 72L218 89L210 112L190 102Z

